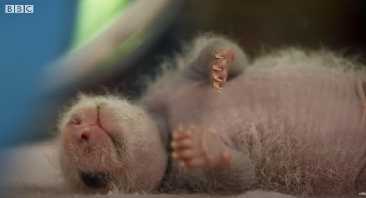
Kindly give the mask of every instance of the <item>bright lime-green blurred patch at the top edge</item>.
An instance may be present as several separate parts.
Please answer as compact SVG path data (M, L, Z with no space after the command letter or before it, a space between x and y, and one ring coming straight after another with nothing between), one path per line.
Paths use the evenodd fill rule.
M132 0L79 0L71 50L96 38Z

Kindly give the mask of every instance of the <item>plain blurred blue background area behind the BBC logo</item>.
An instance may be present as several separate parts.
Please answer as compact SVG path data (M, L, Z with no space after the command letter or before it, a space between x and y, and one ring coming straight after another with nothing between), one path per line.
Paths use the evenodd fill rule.
M42 98L37 95L41 71L70 46L77 1L3 0L1 3L0 145L4 146L32 139L33 133L27 128L37 123L29 123L29 118L43 111L39 105ZM7 4L34 5L34 12L5 13Z

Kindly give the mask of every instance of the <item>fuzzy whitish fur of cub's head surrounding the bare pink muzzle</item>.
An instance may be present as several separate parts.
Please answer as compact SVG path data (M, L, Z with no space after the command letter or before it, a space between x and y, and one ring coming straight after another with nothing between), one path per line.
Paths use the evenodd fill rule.
M109 132L116 133L116 135L123 133L121 136L122 144L125 145L123 156L121 158L121 156L117 156L117 153L111 152L103 146L96 146L93 155L84 155L82 151L79 151L79 148L70 148L74 146L72 142L68 144L68 149L72 149L76 153L67 156L64 146L60 145L60 162L64 176L71 186L86 193L106 193L113 187L117 187L119 191L124 193L153 190L164 174L166 154L156 126L151 119L127 100L112 95L87 96L79 94L76 103L72 104L71 108L67 109L60 117L60 141L65 142L62 130L70 122L73 115L82 114L82 109L85 107L96 108L98 104L104 105L104 113L111 112L115 115L108 117L106 122L107 125L111 126L108 128ZM87 164L83 161L93 161L94 163ZM154 170L156 166L161 170ZM106 189L87 188L79 178L79 170L98 171L98 168L100 171L108 170L109 174L112 175L111 183ZM150 174L145 174L145 172Z

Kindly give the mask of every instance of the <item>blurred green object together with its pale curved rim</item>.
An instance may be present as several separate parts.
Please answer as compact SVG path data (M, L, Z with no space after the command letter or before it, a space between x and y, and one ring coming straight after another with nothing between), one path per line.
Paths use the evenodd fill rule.
M80 0L73 43L45 69L45 92L116 75L145 56L173 22L180 0ZM59 92L59 91L56 91Z

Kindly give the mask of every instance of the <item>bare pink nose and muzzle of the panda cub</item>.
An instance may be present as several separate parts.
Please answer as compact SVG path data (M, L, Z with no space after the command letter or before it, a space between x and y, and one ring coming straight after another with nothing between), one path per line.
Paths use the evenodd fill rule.
M76 167L87 171L102 170L104 164L112 164L105 160L115 151L108 134L108 117L100 112L93 107L82 108L61 129L66 156Z

